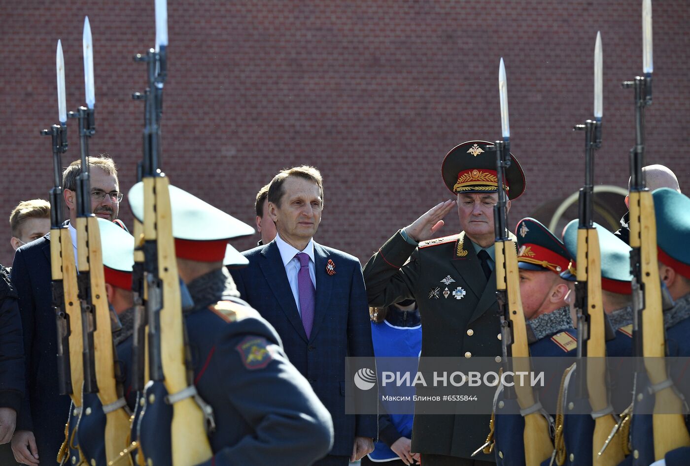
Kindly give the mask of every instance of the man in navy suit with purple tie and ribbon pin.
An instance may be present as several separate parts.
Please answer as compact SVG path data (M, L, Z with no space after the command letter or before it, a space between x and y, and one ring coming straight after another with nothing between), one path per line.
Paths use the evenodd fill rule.
M333 417L335 443L317 465L346 465L373 450L376 416L345 414L345 358L373 357L359 261L313 241L323 207L321 174L283 170L268 188L278 234L244 252L248 267L231 270L242 298L275 327L290 362Z

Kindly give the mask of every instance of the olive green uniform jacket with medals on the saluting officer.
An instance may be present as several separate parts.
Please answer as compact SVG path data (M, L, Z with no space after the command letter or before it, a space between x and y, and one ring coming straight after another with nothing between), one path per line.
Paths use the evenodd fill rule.
M454 281L446 283L447 276ZM366 263L364 282L371 306L384 307L407 298L417 301L422 356L496 358L502 354L495 270L487 281L464 232L415 247L399 231ZM497 371L498 366L486 370ZM486 441L490 416L454 411L449 403L449 414L416 415L412 451L470 458ZM483 453L474 458L494 461L493 455Z

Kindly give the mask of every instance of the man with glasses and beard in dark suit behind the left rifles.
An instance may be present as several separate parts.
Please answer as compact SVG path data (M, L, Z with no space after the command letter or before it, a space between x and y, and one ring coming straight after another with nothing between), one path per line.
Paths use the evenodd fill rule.
M106 156L87 159L90 172L91 212L115 221L122 194L117 168ZM77 176L81 161L70 163L62 174L64 199L70 212L68 227L77 259ZM52 310L50 234L19 247L14 254L12 283L19 294L19 312L26 355L26 396L17 416L12 451L19 463L30 466L55 464L64 438L70 397L59 394L57 375L57 327ZM75 389L78 389L75 387Z

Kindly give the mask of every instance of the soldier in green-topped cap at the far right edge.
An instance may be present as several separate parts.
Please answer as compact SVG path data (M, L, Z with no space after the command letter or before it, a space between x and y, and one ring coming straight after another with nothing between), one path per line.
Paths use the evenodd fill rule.
M690 199L669 188L660 188L652 193L656 217L656 239L658 245L659 276L673 298L673 307L664 310L667 356L687 358L690 356ZM644 329L642 329L644 334ZM683 366L684 364L680 364ZM677 367L682 371L682 367ZM690 389L687 372L671 371L669 379L674 389L684 396L685 427L690 430L687 400ZM660 384L661 385L661 384ZM639 391L638 391L639 392ZM647 392L645 392L647 394ZM639 396L639 394L638 394ZM647 395L651 412L654 395ZM635 409L635 413L637 409ZM633 452L629 464L638 464L640 458L654 458L652 416L633 414L631 439ZM680 447L667 452L663 460L654 466L680 466L690 463L690 447Z

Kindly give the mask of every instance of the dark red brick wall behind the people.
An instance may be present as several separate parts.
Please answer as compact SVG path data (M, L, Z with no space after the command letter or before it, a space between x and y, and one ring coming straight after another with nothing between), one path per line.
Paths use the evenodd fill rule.
M50 141L39 130L57 121L55 46L61 39L68 110L76 110L84 103L85 14L97 99L90 148L117 161L122 190L135 181L143 110L130 94L144 90L146 74L132 56L154 43L153 3L3 2L3 219L50 189ZM448 150L500 137L504 57L512 149L527 177L514 225L582 183L584 135L571 128L592 114L597 30L604 142L596 181L627 185L633 94L620 82L642 72L640 18L637 0L170 0L164 169L172 183L253 224L255 193L277 170L316 165L326 189L317 241L366 261L397 228L448 198L440 177ZM690 189L690 3L656 1L653 18L647 163L668 165ZM70 125L65 165L79 157ZM126 202L121 218L130 224ZM442 233L457 227L451 214ZM8 223L0 231L0 262L9 264Z

